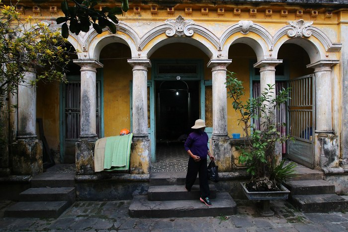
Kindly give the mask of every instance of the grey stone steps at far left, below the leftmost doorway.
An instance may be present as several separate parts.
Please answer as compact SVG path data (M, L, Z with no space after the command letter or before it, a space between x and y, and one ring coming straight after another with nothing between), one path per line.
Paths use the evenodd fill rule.
M19 194L19 202L4 217L58 218L76 198L75 174L45 172L31 180L31 188Z

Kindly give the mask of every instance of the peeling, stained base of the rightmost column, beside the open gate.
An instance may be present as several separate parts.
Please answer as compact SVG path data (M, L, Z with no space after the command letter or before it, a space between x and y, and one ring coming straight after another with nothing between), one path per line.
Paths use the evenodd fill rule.
M315 134L315 159L320 168L339 167L339 138L332 133Z

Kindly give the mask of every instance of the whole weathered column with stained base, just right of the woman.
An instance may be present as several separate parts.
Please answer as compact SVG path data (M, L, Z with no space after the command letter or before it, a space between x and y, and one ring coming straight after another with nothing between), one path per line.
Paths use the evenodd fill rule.
M212 152L216 164L222 172L232 170L232 147L227 132L227 89L226 67L231 59L210 60L207 67L211 68L213 82L213 134L211 137Z

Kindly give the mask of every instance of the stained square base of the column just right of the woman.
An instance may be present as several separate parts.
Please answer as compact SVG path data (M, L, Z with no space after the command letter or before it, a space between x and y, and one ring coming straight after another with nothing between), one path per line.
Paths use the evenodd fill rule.
M232 171L232 147L230 144L230 137L213 135L211 142L212 152L216 160L215 163L219 166L219 171Z

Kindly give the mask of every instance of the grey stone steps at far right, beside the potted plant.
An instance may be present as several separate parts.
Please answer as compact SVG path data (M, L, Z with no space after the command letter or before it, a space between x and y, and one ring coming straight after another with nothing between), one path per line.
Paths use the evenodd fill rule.
M341 212L348 201L335 194L335 185L324 180L324 174L306 167L296 168L299 174L283 183L290 190L289 201L304 213Z

